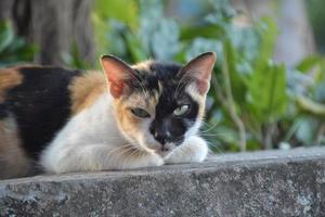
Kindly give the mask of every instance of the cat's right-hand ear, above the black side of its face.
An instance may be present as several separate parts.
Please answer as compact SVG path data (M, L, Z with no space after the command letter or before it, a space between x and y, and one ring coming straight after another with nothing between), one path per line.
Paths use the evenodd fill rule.
M207 93L210 87L211 72L217 55L206 52L191 60L181 71L179 76L185 77L186 82L194 84L200 94Z

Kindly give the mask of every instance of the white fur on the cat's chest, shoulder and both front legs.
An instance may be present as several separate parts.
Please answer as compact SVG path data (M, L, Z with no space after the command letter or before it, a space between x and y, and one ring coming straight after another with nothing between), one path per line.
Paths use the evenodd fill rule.
M198 125L194 128L197 131ZM139 142L144 143L147 138L141 140ZM164 161L202 162L208 152L206 142L197 136L190 136L165 159L143 145L131 144L120 133L113 115L112 97L107 92L67 123L41 153L40 164L48 173L128 169L160 166Z

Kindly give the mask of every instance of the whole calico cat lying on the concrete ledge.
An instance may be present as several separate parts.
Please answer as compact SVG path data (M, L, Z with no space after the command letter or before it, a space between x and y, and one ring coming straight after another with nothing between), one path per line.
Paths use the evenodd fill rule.
M104 55L104 73L0 69L0 177L203 162L198 136L213 52L186 65L133 66Z

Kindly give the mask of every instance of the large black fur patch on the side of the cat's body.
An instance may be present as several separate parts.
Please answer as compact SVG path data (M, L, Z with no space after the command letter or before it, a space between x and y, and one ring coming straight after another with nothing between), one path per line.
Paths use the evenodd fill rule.
M58 67L22 67L23 82L9 90L0 104L0 118L11 114L18 126L23 148L37 158L70 114L68 86L77 71Z

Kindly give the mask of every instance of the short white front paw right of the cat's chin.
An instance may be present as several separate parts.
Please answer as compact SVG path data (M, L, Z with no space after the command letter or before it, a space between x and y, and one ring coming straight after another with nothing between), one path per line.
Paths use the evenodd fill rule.
M174 152L165 157L166 164L203 162L208 155L207 142L197 136L192 136L184 141Z

